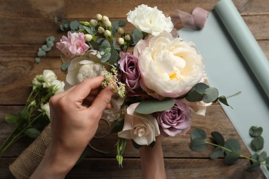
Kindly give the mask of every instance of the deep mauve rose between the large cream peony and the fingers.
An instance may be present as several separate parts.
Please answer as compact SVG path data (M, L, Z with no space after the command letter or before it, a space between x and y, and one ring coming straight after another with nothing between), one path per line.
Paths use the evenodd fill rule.
M140 89L138 59L128 52L121 52L119 55L121 56L119 60L121 82L126 84L126 88L129 92L136 93L136 91Z

